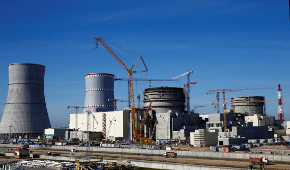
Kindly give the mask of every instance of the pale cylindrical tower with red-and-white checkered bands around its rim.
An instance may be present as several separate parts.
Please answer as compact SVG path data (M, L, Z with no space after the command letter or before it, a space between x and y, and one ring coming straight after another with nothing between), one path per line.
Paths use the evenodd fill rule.
M86 74L83 112L113 111L114 75L106 73Z

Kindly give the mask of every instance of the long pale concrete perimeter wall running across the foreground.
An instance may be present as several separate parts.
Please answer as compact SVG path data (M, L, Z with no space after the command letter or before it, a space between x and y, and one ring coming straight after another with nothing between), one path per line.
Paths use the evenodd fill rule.
M52 146L56 150L72 150L85 151L86 147L76 146ZM151 150L151 149L132 149L132 148L104 148L91 147L93 152L97 153L115 153L115 154L135 154L135 155L154 155L163 156L165 150ZM202 152L202 151L174 151L180 157L194 157L194 158L213 158L213 159L233 159L233 160L248 160L250 154L248 153L227 153L227 152ZM251 157L268 157L271 162L290 162L290 155L273 155L273 154L251 154Z

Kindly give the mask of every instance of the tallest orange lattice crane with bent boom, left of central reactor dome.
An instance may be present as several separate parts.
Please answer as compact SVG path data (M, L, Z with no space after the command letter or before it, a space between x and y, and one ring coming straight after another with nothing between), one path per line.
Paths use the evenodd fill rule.
M128 72L128 84L129 84L129 95L130 95L130 106L131 106L131 115L132 115L132 126L133 126L133 134L134 134L134 138L135 138L135 141L138 140L138 138L140 137L141 135L141 131L142 131L142 128L144 126L144 123L145 123L145 120L147 119L147 116L148 116L148 113L149 113L149 110L151 110L152 108L152 102L150 102L150 106L147 108L146 110L146 116L143 118L142 120L142 123L141 125L139 126L139 128L137 128L137 120L136 120L136 110L135 110L135 99L134 99L134 91L133 91L133 80L132 80L132 73L141 73L141 72L148 72L148 68L146 66L146 64L144 63L144 60L142 58L141 55L138 55L134 52L131 52L127 49L124 49L118 45L115 45L113 43L110 43L114 46L117 46L121 49L124 49L134 55L137 55L138 56L138 59L135 61L135 63L131 66L131 68L128 68L122 61L121 59L111 50L111 48L103 41L103 39L101 37L99 38L95 38L95 40L97 40L97 43L96 43L96 47L98 47L98 42L100 42L106 49L107 51L113 56L113 58L115 60L118 61L118 63ZM106 41L106 40L105 40ZM133 68L136 66L136 64L139 62L139 61L142 61L144 67L145 67L145 70L135 70L135 71L132 71Z

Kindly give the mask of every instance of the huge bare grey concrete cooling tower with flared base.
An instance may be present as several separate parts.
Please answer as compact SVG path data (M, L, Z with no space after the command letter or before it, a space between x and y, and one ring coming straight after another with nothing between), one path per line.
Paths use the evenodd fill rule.
M8 65L9 90L0 123L2 137L34 137L51 128L45 98L45 66L29 63Z

